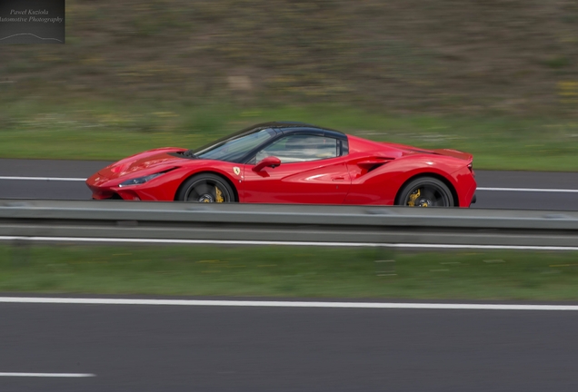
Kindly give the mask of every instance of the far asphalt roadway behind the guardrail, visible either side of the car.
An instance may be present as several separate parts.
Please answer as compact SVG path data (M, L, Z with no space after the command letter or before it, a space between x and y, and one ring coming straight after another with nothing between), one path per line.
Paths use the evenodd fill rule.
M0 177L86 178L109 162L0 159ZM479 188L550 191L477 192L473 208L578 211L578 172L476 171ZM0 179L0 199L87 200L83 181Z

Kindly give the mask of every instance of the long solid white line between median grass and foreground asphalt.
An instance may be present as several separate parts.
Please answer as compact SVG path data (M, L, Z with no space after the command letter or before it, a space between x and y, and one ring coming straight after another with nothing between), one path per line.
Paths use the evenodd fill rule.
M571 310L578 305L516 305L516 304L445 304L398 302L330 302L269 301L210 299L85 299L43 297L0 297L0 303L65 304L65 305L161 305L253 308L340 308L340 309L448 309L448 310Z

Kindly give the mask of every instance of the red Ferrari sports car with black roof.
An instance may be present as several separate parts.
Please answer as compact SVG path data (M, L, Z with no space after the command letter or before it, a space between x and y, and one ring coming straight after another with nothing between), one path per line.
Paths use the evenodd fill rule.
M115 162L93 199L469 207L472 155L373 142L302 122L266 122L197 150Z

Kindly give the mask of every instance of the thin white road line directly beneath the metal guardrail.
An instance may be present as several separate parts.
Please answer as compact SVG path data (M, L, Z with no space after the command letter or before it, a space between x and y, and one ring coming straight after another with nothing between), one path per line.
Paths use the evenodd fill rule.
M578 247L537 246L537 245L453 245L453 244L413 244L382 242L313 242L313 241L271 241L271 240L172 240L172 239L119 239L89 237L25 237L0 236L2 240L30 240L47 242L115 242L115 243L163 243L163 244L204 244L204 245L283 245L283 246L318 246L318 247L364 247L364 248L414 248L443 250L578 250Z

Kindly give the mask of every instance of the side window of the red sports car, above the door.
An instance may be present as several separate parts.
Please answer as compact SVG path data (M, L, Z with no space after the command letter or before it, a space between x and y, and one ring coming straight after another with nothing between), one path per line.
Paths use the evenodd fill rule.
M289 135L257 152L256 162L276 156L282 163L317 161L340 155L336 139L314 135Z

